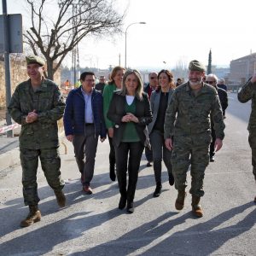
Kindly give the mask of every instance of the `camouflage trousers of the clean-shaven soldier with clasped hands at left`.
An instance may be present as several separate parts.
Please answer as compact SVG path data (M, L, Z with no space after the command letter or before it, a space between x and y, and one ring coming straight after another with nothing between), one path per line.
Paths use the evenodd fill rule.
M61 190L65 184L61 179L61 159L58 148L20 149L23 197L26 206L37 205L40 201L37 183L38 158L40 158L44 176L52 189Z

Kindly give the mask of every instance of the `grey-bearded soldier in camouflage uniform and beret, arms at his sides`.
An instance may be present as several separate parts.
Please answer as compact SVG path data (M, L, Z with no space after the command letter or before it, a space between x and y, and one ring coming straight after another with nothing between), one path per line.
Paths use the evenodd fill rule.
M189 82L174 90L165 119L166 148L172 150L172 172L178 190L175 207L177 210L183 209L186 175L191 165L189 193L192 195L192 211L197 217L203 216L199 202L204 195L203 179L209 164L209 145L212 140L210 113L216 132L216 151L222 147L224 139L224 121L218 93L211 85L202 82L204 75L205 67L199 61L190 61Z

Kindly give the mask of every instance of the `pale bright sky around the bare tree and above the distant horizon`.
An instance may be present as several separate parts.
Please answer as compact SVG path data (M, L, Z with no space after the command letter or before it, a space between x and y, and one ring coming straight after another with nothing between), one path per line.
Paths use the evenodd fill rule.
M25 0L7 0L8 13L24 15ZM123 33L115 38L89 38L79 44L81 67L127 66L153 70L172 69L177 62L197 59L207 65L229 66L230 61L256 52L255 0L116 0L117 9L127 8ZM0 3L2 13L2 3ZM70 66L71 56L64 62Z

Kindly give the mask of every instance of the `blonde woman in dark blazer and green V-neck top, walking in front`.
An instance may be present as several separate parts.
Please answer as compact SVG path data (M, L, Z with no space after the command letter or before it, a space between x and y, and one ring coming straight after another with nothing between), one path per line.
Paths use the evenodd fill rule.
M143 93L143 82L137 70L128 70L123 78L122 89L114 92L108 109L108 119L114 122L113 146L119 183L119 209L134 212L133 199L143 148L148 139L147 126L152 121L148 95ZM129 160L128 160L129 155ZM128 162L129 181L126 186Z

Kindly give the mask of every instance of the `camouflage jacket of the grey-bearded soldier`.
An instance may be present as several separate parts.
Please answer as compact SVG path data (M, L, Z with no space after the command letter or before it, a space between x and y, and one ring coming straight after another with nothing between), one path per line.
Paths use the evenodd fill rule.
M225 125L217 90L204 83L195 96L189 82L179 85L166 109L165 138L210 133L210 113L216 137L224 139Z

